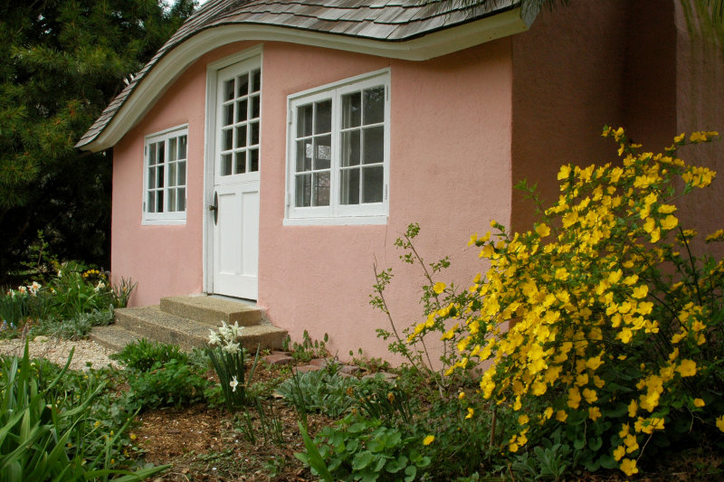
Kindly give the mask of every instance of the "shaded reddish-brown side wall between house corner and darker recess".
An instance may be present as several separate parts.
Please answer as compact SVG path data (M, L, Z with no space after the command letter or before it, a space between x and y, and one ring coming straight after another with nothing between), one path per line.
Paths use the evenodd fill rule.
M611 158L605 124L622 124L623 0L572 2L541 10L515 35L513 56L513 183L538 184L544 204L557 201L561 165ZM513 192L513 228L532 228L534 205Z

